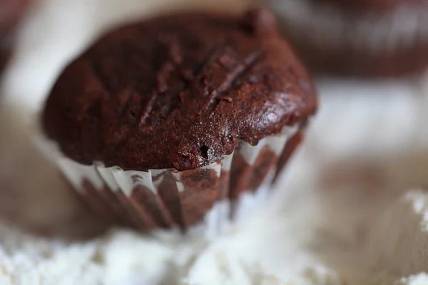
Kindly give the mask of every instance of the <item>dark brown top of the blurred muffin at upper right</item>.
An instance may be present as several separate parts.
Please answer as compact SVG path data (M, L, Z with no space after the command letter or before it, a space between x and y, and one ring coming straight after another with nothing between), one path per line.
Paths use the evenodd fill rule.
M316 1L316 0L315 0ZM426 0L325 0L347 9L390 11L402 5L427 3Z

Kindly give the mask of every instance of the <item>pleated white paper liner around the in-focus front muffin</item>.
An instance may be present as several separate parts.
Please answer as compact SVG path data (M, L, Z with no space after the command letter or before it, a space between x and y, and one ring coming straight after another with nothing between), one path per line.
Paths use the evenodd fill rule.
M98 214L143 232L180 229L218 234L231 222L250 216L265 200L283 153L300 135L295 125L258 145L241 141L235 151L194 170L132 171L81 165L43 137L36 145L58 165L78 194ZM291 147L296 147L292 144ZM282 165L281 165L282 166Z

